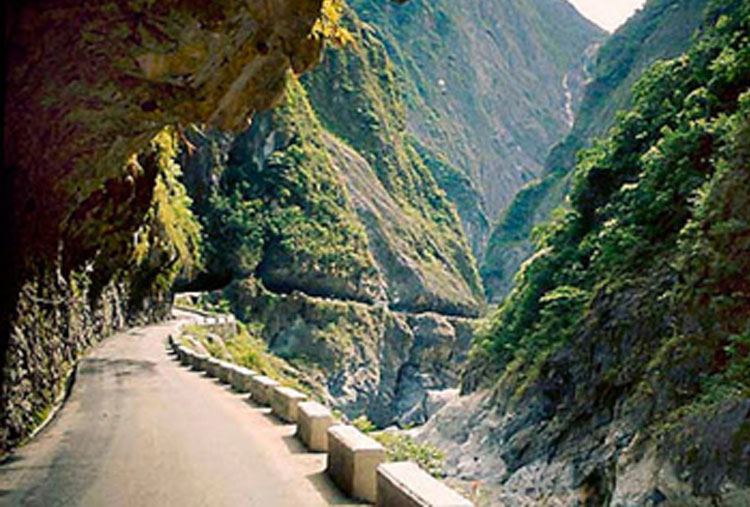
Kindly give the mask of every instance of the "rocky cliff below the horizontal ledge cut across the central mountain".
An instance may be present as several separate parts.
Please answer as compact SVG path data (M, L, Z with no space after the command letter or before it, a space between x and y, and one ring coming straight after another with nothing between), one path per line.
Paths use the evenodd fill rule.
M474 319L275 294L255 280L233 282L224 295L272 353L350 419L423 424L457 394Z

